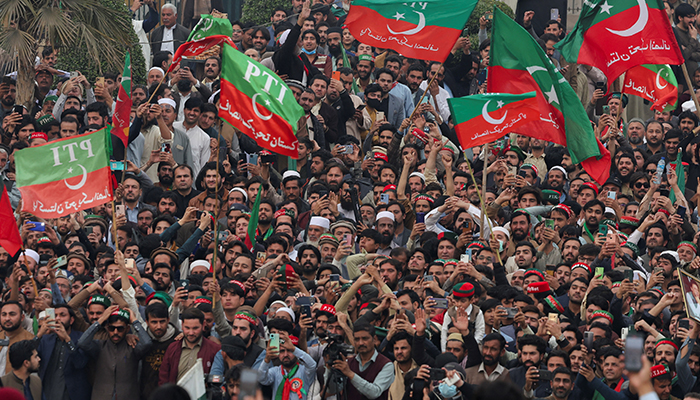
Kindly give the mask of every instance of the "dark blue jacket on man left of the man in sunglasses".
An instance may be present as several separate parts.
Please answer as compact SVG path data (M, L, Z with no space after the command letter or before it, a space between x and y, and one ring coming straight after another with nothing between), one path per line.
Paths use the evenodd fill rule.
M71 400L90 400L92 387L87 375L87 363L89 357L83 350L78 349L78 340L83 332L71 331L70 338L73 342L73 350L68 350L66 355L66 363L64 365L64 375L68 395ZM37 352L43 360L39 368L39 377L43 381L46 377L46 370L49 365L49 359L56 346L58 336L55 333L47 334L39 339L39 347Z

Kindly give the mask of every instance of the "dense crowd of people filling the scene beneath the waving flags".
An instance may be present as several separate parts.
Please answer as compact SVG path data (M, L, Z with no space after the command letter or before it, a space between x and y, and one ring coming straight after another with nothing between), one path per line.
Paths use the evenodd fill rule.
M201 363L208 395L233 400L700 399L688 88L676 110L633 111L561 58L559 20L520 13L612 153L600 185L528 132L460 143L447 99L485 92L489 15L443 64L363 44L347 2L314 3L232 23L306 113L296 160L217 122L216 55L164 76L215 3L144 3L153 67L128 145L112 140L115 208L21 211L14 156L109 124L118 74L89 82L47 47L31 104L2 78L0 176L26 250L0 248L0 397L184 399ZM696 12L664 3L691 63Z

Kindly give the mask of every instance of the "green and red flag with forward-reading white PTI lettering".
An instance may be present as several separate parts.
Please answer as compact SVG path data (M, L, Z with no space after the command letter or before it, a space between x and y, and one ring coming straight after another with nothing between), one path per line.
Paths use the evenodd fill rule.
M297 123L304 109L277 74L224 43L219 117L258 146L299 158Z

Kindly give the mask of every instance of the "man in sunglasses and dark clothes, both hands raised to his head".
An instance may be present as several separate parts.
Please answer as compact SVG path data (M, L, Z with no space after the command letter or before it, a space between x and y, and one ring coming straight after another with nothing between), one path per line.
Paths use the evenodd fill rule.
M110 306L80 337L78 349L95 360L93 400L140 397L138 366L151 346L151 337L141 324L134 323L136 321L136 314L130 309L120 310L118 306ZM138 337L134 347L125 340L129 325ZM108 339L93 340L101 326L107 331Z

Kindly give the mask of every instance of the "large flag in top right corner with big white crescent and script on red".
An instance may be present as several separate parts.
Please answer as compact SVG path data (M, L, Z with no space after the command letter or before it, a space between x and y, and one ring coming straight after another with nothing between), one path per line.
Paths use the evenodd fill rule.
M555 47L569 62L600 68L608 85L637 65L683 63L661 0L585 0Z

